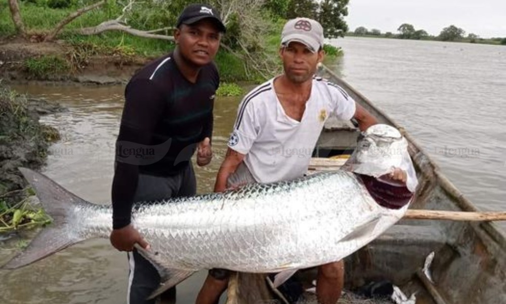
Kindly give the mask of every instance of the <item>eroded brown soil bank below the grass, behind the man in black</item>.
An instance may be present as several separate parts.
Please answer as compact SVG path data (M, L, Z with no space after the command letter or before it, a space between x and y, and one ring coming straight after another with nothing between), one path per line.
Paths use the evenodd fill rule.
M8 83L28 81L124 84L153 58L96 46L0 39L0 79Z

